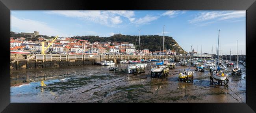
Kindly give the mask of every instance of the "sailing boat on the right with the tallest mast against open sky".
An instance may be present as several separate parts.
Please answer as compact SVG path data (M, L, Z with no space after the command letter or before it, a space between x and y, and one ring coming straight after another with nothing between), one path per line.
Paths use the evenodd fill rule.
M220 32L220 30L219 30ZM224 73L224 71L219 67L219 38L218 38L218 47L217 47L217 56L218 56L218 62L216 62L216 68L212 72L213 78L215 80L224 81L226 80L227 75Z

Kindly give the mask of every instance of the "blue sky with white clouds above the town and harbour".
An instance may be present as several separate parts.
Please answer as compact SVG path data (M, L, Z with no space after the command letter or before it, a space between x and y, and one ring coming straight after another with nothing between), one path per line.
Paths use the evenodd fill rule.
M171 36L187 52L246 54L245 10L11 10L13 32L47 36L100 37L113 34Z

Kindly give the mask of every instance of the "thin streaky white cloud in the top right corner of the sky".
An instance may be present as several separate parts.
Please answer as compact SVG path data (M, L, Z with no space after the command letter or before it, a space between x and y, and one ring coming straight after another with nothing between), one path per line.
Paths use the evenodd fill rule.
M245 18L245 11L211 11L198 13L195 18L188 20L192 24L213 23L221 20Z

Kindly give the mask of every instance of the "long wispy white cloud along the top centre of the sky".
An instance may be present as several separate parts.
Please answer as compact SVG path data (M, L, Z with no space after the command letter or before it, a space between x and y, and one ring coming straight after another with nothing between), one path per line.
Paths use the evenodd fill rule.
M70 18L79 18L82 20L106 25L108 27L120 27L120 24L123 22L122 19L124 18L127 18L130 21L130 23L133 23L136 25L139 25L139 24L144 25L144 24L152 23L154 20L157 20L161 16L169 16L170 18L173 18L175 16L178 16L179 14L185 13L185 11L170 10L158 16L150 16L149 14L147 14L142 18L135 18L134 11L126 11L126 10L108 10L108 11L100 11L100 10L72 10L72 11L64 10L63 11L61 10L61 11L50 11L46 13L58 14L58 15L66 16Z

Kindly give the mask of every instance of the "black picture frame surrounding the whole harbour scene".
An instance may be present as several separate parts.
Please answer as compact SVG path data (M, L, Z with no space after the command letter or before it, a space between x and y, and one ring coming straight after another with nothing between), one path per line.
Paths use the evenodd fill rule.
M70 10L70 9L170 9L170 10L246 10L246 103L244 104L10 104L10 77L9 77L9 32L10 10ZM99 1L99 0L0 0L0 111L2 113L41 113L51 110L73 111L156 111L167 110L174 112L181 110L196 113L255 113L256 88L254 64L254 44L256 42L256 2L255 0L126 0L126 1ZM71 107L70 107L71 106ZM157 107L156 107L157 106ZM182 106L182 107L181 107ZM96 107L92 108L92 107ZM68 109L70 108L70 109ZM156 109L153 109L156 108ZM174 110L173 110L174 109ZM74 112L74 111L73 111Z

